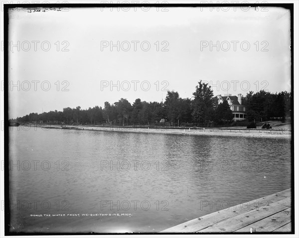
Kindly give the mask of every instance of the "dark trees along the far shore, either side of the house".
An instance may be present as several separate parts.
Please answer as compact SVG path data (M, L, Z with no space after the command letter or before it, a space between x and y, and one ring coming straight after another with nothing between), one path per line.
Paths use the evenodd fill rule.
M89 109L64 108L63 111L50 111L10 119L10 122L40 122L64 124L102 124L102 125L152 125L166 123L167 125L197 125L214 126L214 124L229 124L233 114L227 101L217 105L213 100L213 90L208 84L198 82L192 99L179 97L178 92L168 91L164 102L146 102L136 99L131 103L120 99L110 104L104 103L104 108L95 106ZM288 92L270 93L260 91L247 93L242 97L246 104L247 120L265 121L279 119L285 121L291 113L291 94Z

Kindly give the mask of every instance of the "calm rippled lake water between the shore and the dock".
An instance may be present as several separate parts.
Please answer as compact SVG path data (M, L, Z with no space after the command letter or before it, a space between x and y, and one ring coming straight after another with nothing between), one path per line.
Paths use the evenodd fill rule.
M156 233L291 188L290 139L19 128L11 232Z

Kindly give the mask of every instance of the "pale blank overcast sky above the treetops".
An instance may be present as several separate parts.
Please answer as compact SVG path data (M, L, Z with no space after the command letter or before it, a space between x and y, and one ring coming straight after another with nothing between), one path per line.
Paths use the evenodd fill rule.
M290 11L263 10L11 10L9 118L121 98L160 102L162 90L191 98L200 80L214 95L291 91Z

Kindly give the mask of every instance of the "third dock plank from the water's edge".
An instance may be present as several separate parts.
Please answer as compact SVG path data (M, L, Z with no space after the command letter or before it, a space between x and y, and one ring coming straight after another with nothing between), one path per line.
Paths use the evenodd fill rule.
M285 226L286 224L289 224L290 222L291 222L291 208L288 208L284 211L273 214L270 217L267 217L258 222L250 224L249 226L243 227L242 229L239 229L235 232L236 233L237 232L250 233L250 231L273 232L276 229Z

